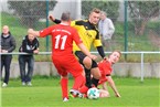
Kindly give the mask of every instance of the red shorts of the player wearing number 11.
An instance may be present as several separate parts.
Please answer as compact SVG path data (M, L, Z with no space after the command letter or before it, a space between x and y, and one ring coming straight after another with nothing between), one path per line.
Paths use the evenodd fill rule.
M71 73L74 77L76 77L83 73L83 67L73 54L63 56L53 55L52 61L61 76L66 76Z

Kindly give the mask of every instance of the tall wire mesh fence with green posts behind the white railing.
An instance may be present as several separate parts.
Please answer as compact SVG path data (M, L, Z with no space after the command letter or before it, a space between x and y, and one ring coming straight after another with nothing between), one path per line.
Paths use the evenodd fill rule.
M17 3L13 3L15 1ZM87 19L92 8L99 8L106 11L107 17L114 21L116 31L111 39L109 49L105 49L106 51L160 51L160 1L158 0L53 1L54 0L1 1L1 26L4 24L10 26L10 31L15 36L18 44L15 51L18 51L21 45L22 38L26 35L29 28L41 30L50 24L53 24L53 22L47 20L49 12L58 14L68 9L72 11L73 17L81 14L81 18ZM92 50L95 51L94 47ZM50 38L40 39L40 51L51 51Z

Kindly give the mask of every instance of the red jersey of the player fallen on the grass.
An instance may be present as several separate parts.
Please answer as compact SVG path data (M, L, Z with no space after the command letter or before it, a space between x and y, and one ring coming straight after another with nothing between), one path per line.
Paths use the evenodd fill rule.
M103 84L104 82L107 81L106 76L109 76L111 74L113 67L108 61L104 60L104 61L98 63L98 68L99 68L100 74L102 74L102 77L99 78L98 84Z

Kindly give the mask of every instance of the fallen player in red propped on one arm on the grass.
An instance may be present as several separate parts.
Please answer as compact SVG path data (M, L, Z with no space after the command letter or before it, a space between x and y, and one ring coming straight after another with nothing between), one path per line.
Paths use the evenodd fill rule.
M113 65L119 61L121 53L119 51L114 51L107 58L103 60L98 63L98 68L100 71L102 77L99 78L98 85L102 85L103 88L99 89L100 96L99 97L109 97L109 92L107 89L106 83L113 88L116 97L120 97L118 89L116 88L115 82L111 78ZM95 84L94 84L95 85ZM97 87L95 86L95 87ZM86 96L81 95L79 97Z

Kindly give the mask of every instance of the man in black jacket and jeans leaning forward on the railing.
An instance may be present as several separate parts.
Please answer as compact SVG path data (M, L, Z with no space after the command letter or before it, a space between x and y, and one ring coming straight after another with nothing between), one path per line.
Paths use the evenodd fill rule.
M19 66L20 66L20 74L21 74L21 82L22 85L31 86L31 78L33 74L34 67L34 57L33 54L39 53L39 41L34 35L28 34L22 41L22 45L19 49L20 52L25 52L29 54L21 54L19 55ZM25 73L25 64L28 63L28 73Z

